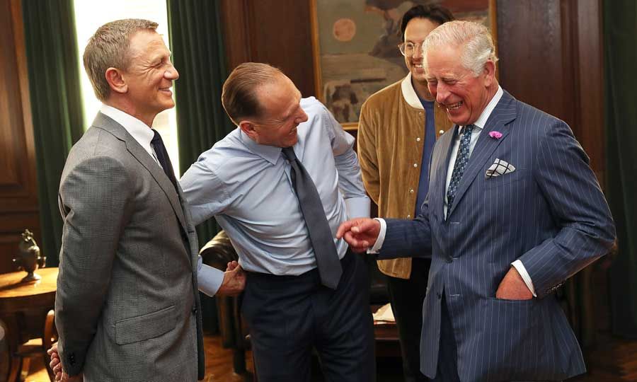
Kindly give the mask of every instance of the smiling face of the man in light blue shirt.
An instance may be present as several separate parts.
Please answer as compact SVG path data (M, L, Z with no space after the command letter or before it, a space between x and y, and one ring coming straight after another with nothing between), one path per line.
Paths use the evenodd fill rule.
M298 141L297 127L307 120L301 92L286 76L260 86L257 98L263 115L253 118L246 133L258 144L289 147ZM243 124L243 122L242 122Z

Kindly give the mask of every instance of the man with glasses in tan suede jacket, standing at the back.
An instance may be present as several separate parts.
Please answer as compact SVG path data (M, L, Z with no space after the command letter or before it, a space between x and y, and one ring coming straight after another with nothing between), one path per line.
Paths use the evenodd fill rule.
M435 4L409 9L401 21L403 43L398 45L409 74L362 105L360 166L380 217L413 219L427 195L432 147L452 124L444 110L434 107L427 90L421 45L434 28L451 20L452 13ZM406 381L427 380L419 371L419 345L430 265L430 254L378 261L379 270L387 275Z

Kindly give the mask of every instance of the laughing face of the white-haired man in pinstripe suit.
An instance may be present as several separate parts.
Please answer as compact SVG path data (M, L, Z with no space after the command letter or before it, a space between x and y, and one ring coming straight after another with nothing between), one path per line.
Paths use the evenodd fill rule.
M478 76L461 64L461 47L440 46L425 54L427 87L449 120L466 126L478 120L498 91L495 64L488 60Z

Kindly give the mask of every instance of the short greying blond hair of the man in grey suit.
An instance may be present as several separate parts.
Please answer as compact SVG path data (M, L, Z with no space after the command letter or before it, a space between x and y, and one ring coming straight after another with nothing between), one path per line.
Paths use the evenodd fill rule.
M93 84L98 100L110 94L106 70L110 67L126 70L130 65L130 37L140 30L154 32L157 23L140 18L126 18L102 25L91 36L84 50L84 69Z

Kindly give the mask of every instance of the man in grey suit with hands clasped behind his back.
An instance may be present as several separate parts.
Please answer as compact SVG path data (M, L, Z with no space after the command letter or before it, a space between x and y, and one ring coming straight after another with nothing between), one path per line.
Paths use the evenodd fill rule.
M57 377L64 380L203 378L197 289L236 294L245 283L236 264L224 274L197 257L190 211L150 127L174 106L178 78L156 27L107 23L84 52L103 106L71 149L59 186L64 231L52 364L63 367L67 374Z

